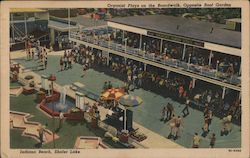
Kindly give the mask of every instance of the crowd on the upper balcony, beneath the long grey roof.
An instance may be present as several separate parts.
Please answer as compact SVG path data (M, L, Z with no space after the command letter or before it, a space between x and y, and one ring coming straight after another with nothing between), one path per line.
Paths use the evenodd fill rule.
M119 29L111 31L108 35L106 34L107 37L106 35L98 35L98 33L94 32L92 34L99 40L111 40L114 43L136 48L137 50L140 48L141 51L145 52L146 56L161 61L175 59L176 61L192 64L193 66L203 67L203 70L214 70L221 73L222 75L220 76L224 78L240 75L240 57L219 52L212 52L210 57L209 50L193 46L186 46L185 54L183 54L183 44L163 40L162 48L160 48L160 39L144 35L142 35L140 44L139 34L127 31L123 32ZM209 58L211 58L211 61L209 61Z

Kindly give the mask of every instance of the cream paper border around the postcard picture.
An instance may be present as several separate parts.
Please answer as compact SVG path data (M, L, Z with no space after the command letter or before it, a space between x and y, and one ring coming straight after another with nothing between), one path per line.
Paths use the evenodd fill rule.
M201 8L204 3L214 3L215 7L211 8L242 8L242 134L241 134L241 148L222 148L222 149L111 149L111 150L79 150L80 153L74 154L68 152L67 154L20 154L20 149L10 149L9 140L9 9L10 8L110 8L111 5L128 4L138 5L139 8L149 4L158 6L168 4L179 4L180 8ZM200 5L199 5L200 4ZM228 5L226 5L228 4ZM113 7L112 7L113 8ZM150 7L152 8L152 6ZM157 7L156 7L157 8ZM165 7L168 8L168 7ZM1 2L1 156L2 157L227 157L235 158L249 157L249 2L247 0L239 1L4 1ZM6 40L7 39L7 40ZM39 150L39 149L34 149ZM54 149L49 149L54 153ZM70 149L67 149L70 151ZM181 151L179 151L181 150ZM209 152L209 154L204 154Z

